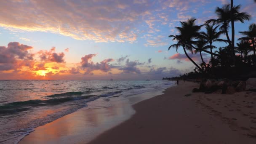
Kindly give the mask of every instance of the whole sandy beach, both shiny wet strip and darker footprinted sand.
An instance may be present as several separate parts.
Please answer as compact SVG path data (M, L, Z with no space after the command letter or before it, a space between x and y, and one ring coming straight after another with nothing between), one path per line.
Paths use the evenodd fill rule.
M219 95L192 93L193 88L198 84L180 82L164 94L134 104L135 114L130 102L112 108L78 110L36 128L21 144L84 144L88 142L88 133L83 132L86 123L106 118L109 124L104 123L101 134L92 133L98 136L90 144L256 144L255 92ZM119 109L119 114L123 112L126 117L115 118L118 114L109 118L107 112L113 113L110 109ZM97 112L100 117L93 115L95 110L102 111ZM88 113L92 116L87 117Z

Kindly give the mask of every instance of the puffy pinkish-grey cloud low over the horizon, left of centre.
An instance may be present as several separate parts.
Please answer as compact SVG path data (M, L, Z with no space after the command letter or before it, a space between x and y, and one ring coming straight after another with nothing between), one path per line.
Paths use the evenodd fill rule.
M108 72L111 70L111 65L109 62L114 61L114 59L104 59L100 63L94 63L91 59L96 56L96 54L88 54L81 58L81 68L86 69L85 74L92 74L91 72L94 70L100 70L102 72Z

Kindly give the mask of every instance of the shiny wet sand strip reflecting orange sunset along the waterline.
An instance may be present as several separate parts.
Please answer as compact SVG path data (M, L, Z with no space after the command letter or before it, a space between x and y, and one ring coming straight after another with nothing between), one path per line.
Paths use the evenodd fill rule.
M162 91L162 90L161 90ZM35 128L20 141L20 144L31 143L87 143L103 131L127 120L135 113L132 104L161 94L161 91L147 92L135 96L111 99L110 107L89 107L59 118L51 123ZM102 101L97 99L96 101Z

